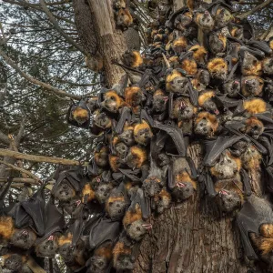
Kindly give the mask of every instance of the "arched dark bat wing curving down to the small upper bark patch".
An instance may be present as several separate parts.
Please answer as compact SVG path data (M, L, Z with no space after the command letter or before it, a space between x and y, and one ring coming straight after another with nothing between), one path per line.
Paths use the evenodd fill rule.
M180 157L186 157L186 147L182 130L175 125L163 125L155 121L154 127L162 130L170 136L177 147L177 152Z

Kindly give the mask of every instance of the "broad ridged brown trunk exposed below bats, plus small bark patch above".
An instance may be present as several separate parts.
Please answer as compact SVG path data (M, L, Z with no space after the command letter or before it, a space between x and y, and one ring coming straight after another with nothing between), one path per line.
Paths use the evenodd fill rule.
M196 166L201 148L188 148ZM143 239L134 272L246 273L243 251L233 217L222 216L214 200L197 195L174 204L152 219L153 229Z

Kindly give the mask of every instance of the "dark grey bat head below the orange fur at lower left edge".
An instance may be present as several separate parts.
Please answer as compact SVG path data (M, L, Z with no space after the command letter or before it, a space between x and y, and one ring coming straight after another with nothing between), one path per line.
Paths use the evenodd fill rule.
M15 229L11 244L16 248L30 249L35 244L36 235L30 228Z

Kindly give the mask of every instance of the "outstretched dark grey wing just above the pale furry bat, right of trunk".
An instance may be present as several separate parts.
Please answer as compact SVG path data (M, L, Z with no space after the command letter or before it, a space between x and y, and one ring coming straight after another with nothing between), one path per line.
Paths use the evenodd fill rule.
M244 138L244 136L218 136L216 140L210 141L205 140L206 155L204 157L205 166L212 166L216 162L217 158L222 154L222 152L231 147L239 140Z

